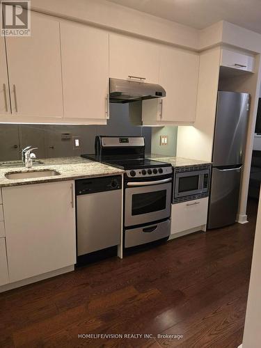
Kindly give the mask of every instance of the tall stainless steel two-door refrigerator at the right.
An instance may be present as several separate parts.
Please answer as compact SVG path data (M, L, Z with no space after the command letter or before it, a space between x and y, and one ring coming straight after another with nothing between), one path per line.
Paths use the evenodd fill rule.
M235 223L239 205L249 94L219 92L207 228Z

